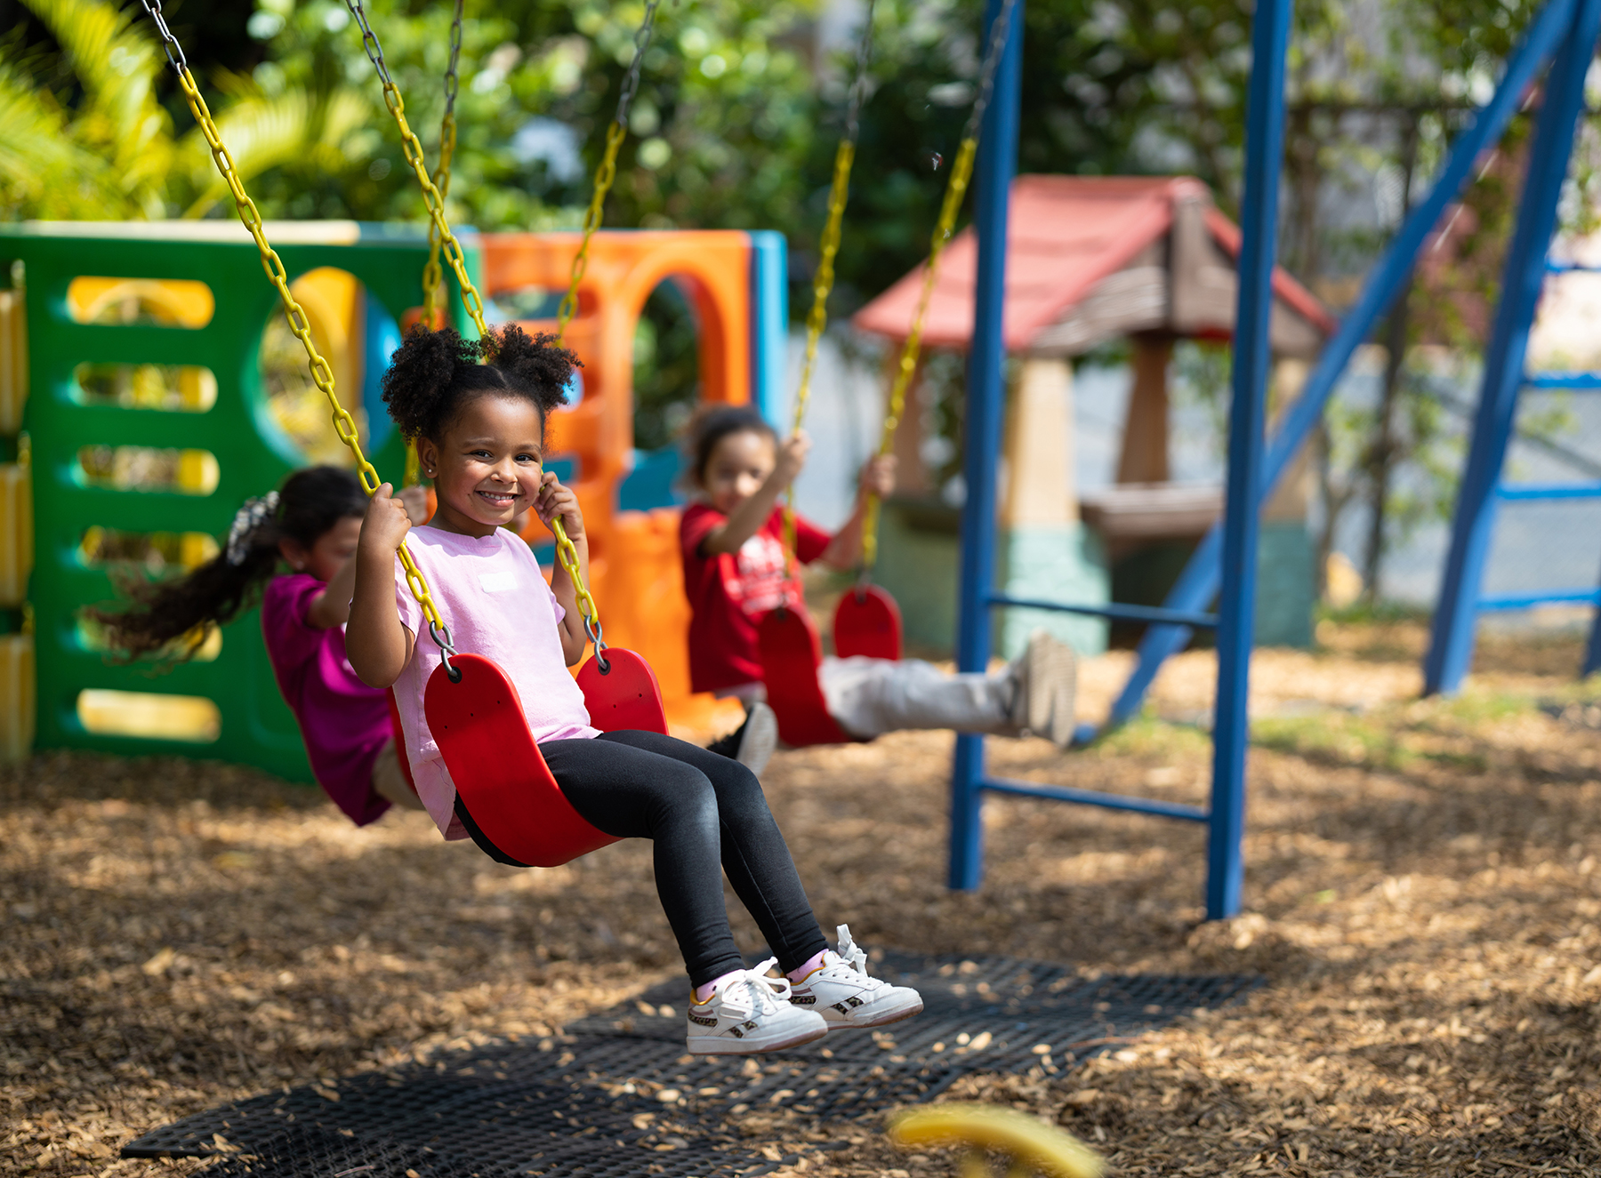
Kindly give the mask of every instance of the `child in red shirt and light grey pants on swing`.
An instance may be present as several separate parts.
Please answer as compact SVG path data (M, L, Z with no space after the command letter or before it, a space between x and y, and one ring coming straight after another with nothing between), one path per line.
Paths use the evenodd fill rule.
M692 429L692 477L700 498L684 512L679 544L684 592L690 600L690 683L696 691L746 703L746 727L722 752L762 739L772 712L762 687L756 626L784 605L805 608L800 583L784 559L784 523L778 496L805 464L804 432L778 440L749 407L717 407ZM874 458L863 467L857 509L829 535L796 517L796 557L850 568L861 554L868 493L895 490L895 459ZM853 736L871 738L903 728L956 728L1001 736L1033 731L1066 747L1073 739L1076 683L1073 648L1044 631L1028 651L994 674L948 675L919 659L825 658L823 698L834 720ZM752 735L754 733L754 735ZM752 763L743 751L744 763ZM765 760L765 757L762 757Z

